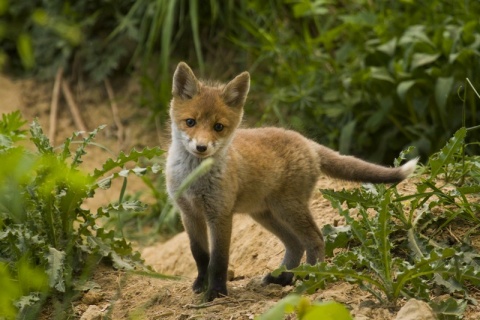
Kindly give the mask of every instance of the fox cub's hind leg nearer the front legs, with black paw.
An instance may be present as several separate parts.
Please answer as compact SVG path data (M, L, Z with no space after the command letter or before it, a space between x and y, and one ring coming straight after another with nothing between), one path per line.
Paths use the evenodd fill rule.
M265 229L276 235L285 246L285 256L282 261L287 269L292 269L300 264L305 247L300 242L295 233L283 221L276 218L270 211L252 214L255 221L260 223ZM276 283L282 286L291 284L293 274L291 272L282 272L278 277L268 274L263 279L264 283Z

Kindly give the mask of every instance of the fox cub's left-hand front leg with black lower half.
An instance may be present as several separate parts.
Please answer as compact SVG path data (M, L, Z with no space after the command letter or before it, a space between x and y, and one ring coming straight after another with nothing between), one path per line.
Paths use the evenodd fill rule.
M179 201L180 202L180 201ZM180 204L180 203L179 203ZM190 250L197 265L198 275L193 282L193 292L200 293L207 289L208 264L208 233L205 217L202 213L193 210L189 205L180 205L182 208L182 222L190 240Z

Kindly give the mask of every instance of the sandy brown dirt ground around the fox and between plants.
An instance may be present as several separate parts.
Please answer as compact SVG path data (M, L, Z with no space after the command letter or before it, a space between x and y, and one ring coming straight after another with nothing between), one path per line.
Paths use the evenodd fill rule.
M45 131L49 128L50 103L53 83L37 83L31 80L12 81L0 76L0 113L21 110L31 122L38 117ZM73 87L73 86L72 86ZM125 127L124 142L120 145L118 128L112 118L108 96L102 84L97 86L75 85L81 115L89 130L106 124L96 142L107 146L113 154L121 149L162 145L160 134L147 125L147 112L136 107L139 88L134 80L123 82L114 89L120 117ZM60 101L58 130L55 141L61 143L75 127L65 101ZM111 154L100 148L90 149L85 159L86 170L92 170L103 163ZM129 181L128 192L135 193L146 187L139 179ZM410 183L410 184L409 184ZM358 185L329 178L321 178L318 189L352 188ZM96 208L116 200L120 186L113 186L101 192L87 203ZM400 184L400 188L413 188L411 182ZM148 196L147 196L148 198ZM148 202L148 199L147 199ZM343 224L338 215L320 192L316 192L311 209L319 226ZM179 276L178 280L166 280L128 274L99 266L93 274L94 288L74 303L75 315L82 319L254 319L277 301L291 293L293 287L277 285L263 286L262 277L274 270L283 257L283 246L270 233L256 225L248 216L237 215L231 245L231 281L228 283L229 297L217 299L213 303L202 304L201 296L193 294L191 284L196 273L193 258L185 233L180 233L164 243L139 248L146 263L161 274ZM357 286L339 282L309 296L311 300L334 300L347 306L355 319L395 319L397 309L378 305L376 300ZM402 301L400 305L405 303ZM88 312L97 315L88 317ZM95 314L95 312L94 312ZM469 306L465 319L480 318L480 307ZM293 318L289 318L293 319Z

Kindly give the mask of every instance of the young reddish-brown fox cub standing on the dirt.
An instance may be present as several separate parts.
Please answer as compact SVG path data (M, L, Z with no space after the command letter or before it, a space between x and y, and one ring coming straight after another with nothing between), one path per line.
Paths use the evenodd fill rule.
M179 209L197 267L193 292L212 301L227 296L232 217L247 213L283 243L287 270L325 258L322 233L310 212L321 174L344 181L397 183L410 176L418 158L396 168L373 164L277 127L240 128L250 74L228 83L198 80L180 62L173 74L169 107L171 144L166 184ZM184 179L208 158L213 165L180 196ZM285 271L268 273L264 284L293 283Z

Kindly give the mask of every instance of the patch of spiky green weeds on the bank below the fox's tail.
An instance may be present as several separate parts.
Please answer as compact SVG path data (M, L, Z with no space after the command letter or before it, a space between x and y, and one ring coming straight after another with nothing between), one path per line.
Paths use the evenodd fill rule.
M466 301L473 300L469 286L480 285L480 254L470 246L470 235L480 226L480 207L471 198L480 190L478 169L473 169L480 159L464 155L466 133L461 128L430 157L416 190L409 194L383 184L322 190L346 225L324 227L331 261L293 269L303 279L297 289L311 293L328 282L344 280L384 304L395 304L402 297L431 301L435 289L464 297L435 304L442 317L461 314ZM470 228L463 238L445 238L447 228L458 225ZM276 272L281 271L285 270Z

